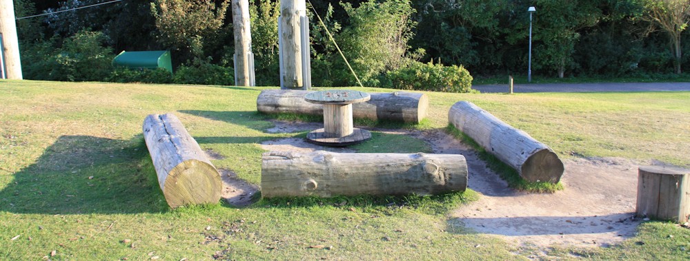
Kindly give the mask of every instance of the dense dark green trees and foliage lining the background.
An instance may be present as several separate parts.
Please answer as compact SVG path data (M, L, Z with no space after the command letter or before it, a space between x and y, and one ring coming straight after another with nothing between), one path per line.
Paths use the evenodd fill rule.
M16 0L14 4L17 16L23 17L100 2ZM176 70L201 63L232 67L228 4L228 0L129 0L20 19L26 78L86 80L44 75L74 67L37 70L46 63L65 66L86 59L55 59L57 50L65 50L63 45L83 32L99 34L101 47L111 52L171 50ZM532 23L529 6L537 10ZM682 44L690 40L686 30L690 3L684 0L330 0L308 3L307 9L312 78L317 86L357 85L326 30L362 83L371 86L391 86L392 77L400 76L401 70L417 70L415 62L429 61L462 65L475 76L520 76L528 63L530 24L535 76L651 77L680 74L690 65L688 56L682 55L690 53L690 45ZM278 84L279 12L279 1L250 1L259 85ZM98 78L101 73L90 74L88 80L104 79Z

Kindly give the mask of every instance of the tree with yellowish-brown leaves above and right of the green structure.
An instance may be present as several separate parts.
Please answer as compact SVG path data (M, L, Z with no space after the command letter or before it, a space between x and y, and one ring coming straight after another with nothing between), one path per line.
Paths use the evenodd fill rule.
M210 0L156 0L151 3L158 41L184 58L204 59L204 39L224 24L230 1L219 8Z

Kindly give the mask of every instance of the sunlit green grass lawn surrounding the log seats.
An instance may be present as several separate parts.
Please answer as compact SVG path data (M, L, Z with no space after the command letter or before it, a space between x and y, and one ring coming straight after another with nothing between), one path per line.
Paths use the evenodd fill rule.
M667 222L646 222L637 237L602 249L535 250L456 231L447 213L477 198L473 191L168 209L141 136L146 115L175 113L203 149L225 157L213 160L216 167L259 184L258 143L304 136L265 132L273 124L256 112L260 90L0 80L0 260L526 260L534 251L560 259L690 258L690 229ZM429 119L417 128L445 129L451 105L467 100L561 158L690 166L690 92L428 96ZM425 148L375 135L359 152Z

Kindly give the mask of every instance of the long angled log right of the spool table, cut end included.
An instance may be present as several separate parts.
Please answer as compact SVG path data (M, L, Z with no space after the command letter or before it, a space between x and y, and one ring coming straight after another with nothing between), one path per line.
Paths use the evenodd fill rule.
M448 121L525 180L558 183L563 175L563 163L551 148L473 103L455 103Z

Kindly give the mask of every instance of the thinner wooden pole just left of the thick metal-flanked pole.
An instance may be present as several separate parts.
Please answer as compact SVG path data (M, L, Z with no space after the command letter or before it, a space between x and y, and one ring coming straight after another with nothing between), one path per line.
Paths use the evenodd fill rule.
M233 0L232 5L235 32L235 85L254 86L254 54L249 22L249 1Z

